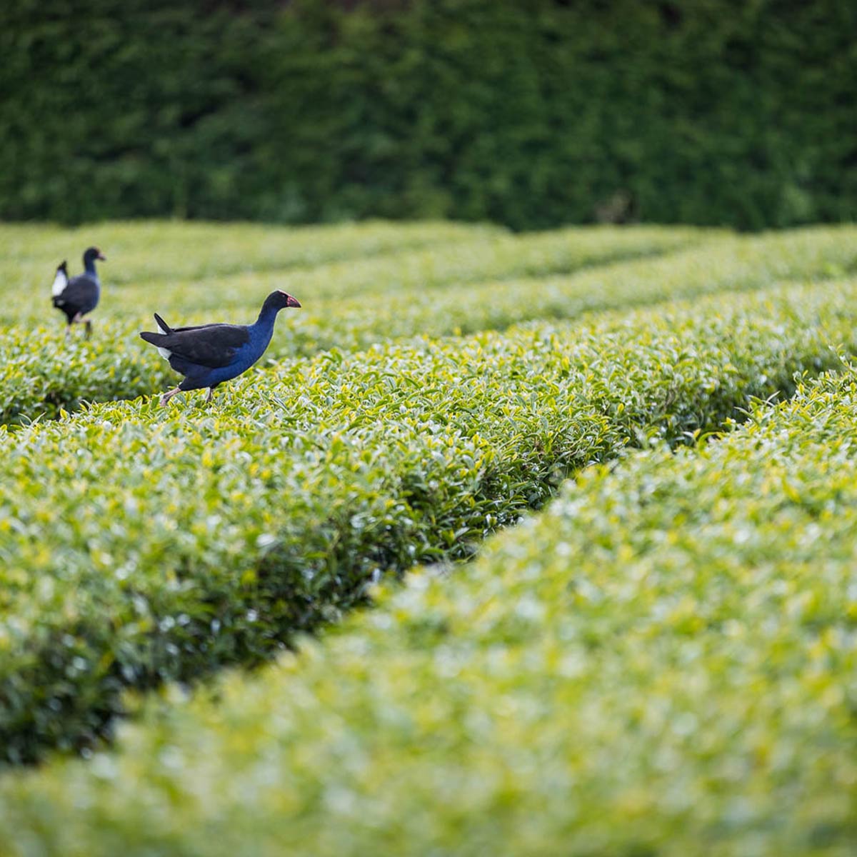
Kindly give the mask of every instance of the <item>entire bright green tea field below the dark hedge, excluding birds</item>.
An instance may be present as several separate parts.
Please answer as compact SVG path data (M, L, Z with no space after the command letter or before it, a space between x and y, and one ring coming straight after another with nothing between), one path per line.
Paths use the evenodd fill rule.
M849 853L857 228L0 246L0 854Z

